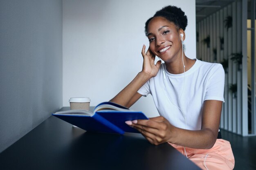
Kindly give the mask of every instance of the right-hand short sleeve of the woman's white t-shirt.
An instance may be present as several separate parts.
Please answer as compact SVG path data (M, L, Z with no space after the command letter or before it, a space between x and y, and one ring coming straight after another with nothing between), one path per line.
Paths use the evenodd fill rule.
M204 100L224 100L225 71L221 64L216 64L210 72Z

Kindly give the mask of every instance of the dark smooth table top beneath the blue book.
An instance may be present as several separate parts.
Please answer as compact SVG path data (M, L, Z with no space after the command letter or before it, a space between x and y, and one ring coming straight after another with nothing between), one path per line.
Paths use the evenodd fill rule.
M135 133L86 132L54 116L0 153L0 170L14 169L200 170L167 143L154 146Z

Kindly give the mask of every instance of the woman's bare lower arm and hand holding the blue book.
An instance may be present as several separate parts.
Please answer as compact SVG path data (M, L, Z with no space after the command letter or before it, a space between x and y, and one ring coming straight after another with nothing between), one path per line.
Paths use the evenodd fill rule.
M209 149L215 144L218 136L221 108L222 101L204 101L201 130L177 128L162 116L149 120L127 121L127 124L139 130L151 144L170 142L190 148Z

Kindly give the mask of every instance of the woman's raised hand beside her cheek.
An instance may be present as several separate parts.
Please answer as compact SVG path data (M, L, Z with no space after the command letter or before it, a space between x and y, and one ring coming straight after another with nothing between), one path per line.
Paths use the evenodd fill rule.
M147 53L145 53L146 46L142 47L142 57L143 57L143 67L142 72L149 74L150 78L155 77L158 73L158 70L161 66L161 60L157 61L155 64L155 54L153 54L148 48Z

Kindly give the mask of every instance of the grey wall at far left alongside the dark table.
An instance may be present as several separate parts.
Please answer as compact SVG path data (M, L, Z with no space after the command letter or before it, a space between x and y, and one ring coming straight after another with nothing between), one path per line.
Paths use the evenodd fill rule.
M62 0L0 0L0 152L62 107Z

